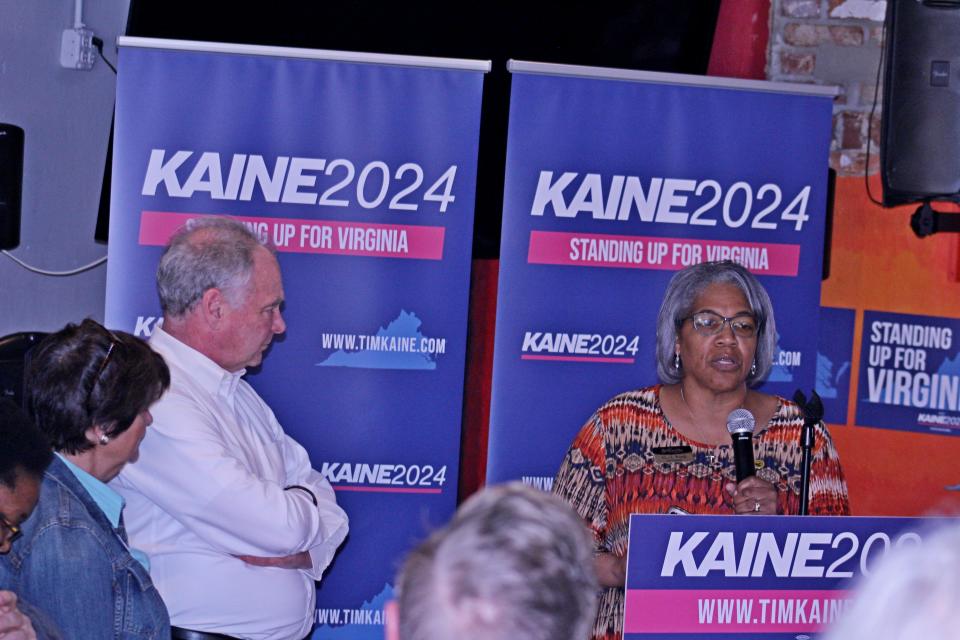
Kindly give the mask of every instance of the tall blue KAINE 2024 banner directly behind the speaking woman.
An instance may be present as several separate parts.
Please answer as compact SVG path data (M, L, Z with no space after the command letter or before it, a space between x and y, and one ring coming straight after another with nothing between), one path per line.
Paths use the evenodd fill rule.
M529 72L511 89L488 481L549 488L594 409L657 381L656 314L690 264L731 259L760 277L778 329L762 388L809 395L830 97L517 68Z

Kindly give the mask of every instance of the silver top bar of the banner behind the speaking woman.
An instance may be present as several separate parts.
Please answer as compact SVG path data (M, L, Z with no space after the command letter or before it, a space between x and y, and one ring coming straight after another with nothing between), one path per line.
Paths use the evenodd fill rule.
M824 98L833 98L840 94L840 89L832 85L808 85L789 82L770 82L767 80L744 80L742 78L720 78L717 76L693 76L683 73L585 67L573 64L527 62L524 60L507 60L507 70L511 73L533 73L548 76L576 76L582 78L597 78L600 80L658 82L661 84L714 87L717 89L744 89L747 91L764 91L767 93L799 93L811 96L822 96Z

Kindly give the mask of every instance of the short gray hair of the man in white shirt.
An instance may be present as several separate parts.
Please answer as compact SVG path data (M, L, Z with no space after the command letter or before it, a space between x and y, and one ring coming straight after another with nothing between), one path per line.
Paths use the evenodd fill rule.
M157 293L164 315L183 316L213 288L223 291L231 304L242 302L253 256L263 246L237 220L209 217L188 222L170 239L157 267Z

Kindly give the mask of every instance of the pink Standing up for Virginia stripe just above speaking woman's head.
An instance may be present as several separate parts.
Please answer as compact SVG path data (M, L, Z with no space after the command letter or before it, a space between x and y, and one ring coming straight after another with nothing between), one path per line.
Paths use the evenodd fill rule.
M733 260L758 274L795 276L800 245L531 231L527 253L532 264L671 271L712 260Z

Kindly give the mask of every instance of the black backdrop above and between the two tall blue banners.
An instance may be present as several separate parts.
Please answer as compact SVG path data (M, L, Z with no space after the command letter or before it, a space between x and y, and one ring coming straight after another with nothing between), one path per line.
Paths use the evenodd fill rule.
M127 35L493 61L484 80L474 257L500 248L510 58L704 74L720 0L485 3L131 0Z

